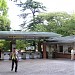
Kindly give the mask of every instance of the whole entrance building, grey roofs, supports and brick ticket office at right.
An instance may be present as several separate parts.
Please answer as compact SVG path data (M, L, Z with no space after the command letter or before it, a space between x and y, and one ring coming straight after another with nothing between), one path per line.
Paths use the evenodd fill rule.
M42 58L71 58L71 49L75 47L75 36L62 37L53 32L21 32L0 31L0 39L9 40L10 50L16 47L16 40L38 39L38 52L42 52ZM1 53L1 52L0 52ZM1 57L1 55L0 55Z

